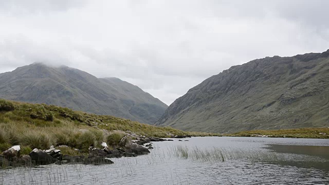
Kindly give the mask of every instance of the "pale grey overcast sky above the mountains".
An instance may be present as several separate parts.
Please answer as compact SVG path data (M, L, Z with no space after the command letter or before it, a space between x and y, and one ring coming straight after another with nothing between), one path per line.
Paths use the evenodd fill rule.
M33 62L170 105L232 65L329 49L329 1L0 1L0 72Z

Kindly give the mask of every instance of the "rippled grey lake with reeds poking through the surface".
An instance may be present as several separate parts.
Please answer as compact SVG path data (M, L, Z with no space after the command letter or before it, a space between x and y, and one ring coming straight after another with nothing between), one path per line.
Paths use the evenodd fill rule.
M193 137L109 165L0 170L0 184L329 184L329 140ZM189 141L184 141L189 140Z

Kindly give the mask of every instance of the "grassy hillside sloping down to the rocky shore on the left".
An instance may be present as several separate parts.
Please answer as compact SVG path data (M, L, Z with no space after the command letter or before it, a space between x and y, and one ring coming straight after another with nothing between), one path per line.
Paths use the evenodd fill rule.
M0 151L15 144L23 146L22 153L29 153L35 147L49 149L50 145L68 145L72 149L86 151L90 145L100 147L103 141L118 144L124 135L131 132L154 137L170 137L169 134L213 135L156 127L114 116L87 114L54 105L0 99ZM61 150L64 154L76 152Z

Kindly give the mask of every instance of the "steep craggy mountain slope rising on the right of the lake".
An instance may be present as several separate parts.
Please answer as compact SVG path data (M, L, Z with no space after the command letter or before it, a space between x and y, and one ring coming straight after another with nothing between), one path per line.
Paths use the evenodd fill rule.
M175 100L155 125L186 131L329 126L329 50L232 66Z

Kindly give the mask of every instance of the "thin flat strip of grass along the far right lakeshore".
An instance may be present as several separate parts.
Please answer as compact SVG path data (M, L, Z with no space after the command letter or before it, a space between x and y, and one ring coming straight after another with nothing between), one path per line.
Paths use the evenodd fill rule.
M243 131L226 136L233 137L287 137L287 138L318 138L329 139L329 128L296 128L286 130L255 130Z

